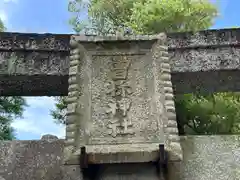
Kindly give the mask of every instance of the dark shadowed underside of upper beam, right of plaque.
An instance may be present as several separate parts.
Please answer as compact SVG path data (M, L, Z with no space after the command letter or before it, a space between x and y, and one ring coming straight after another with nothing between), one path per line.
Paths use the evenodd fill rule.
M177 94L240 91L239 70L172 73L172 82Z

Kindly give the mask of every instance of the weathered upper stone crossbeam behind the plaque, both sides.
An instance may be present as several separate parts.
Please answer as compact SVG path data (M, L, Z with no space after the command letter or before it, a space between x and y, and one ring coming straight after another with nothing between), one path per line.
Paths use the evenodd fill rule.
M67 95L70 36L0 33L0 95ZM240 90L240 29L168 34L168 43L175 93Z

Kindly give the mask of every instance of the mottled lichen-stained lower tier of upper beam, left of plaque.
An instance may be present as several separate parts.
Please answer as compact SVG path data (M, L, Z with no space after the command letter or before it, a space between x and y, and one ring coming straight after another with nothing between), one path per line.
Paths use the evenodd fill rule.
M1 74L66 75L68 56L65 52L0 52Z

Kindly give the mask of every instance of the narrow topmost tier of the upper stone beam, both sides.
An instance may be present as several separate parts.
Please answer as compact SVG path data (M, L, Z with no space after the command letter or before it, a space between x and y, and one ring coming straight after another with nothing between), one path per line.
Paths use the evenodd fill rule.
M69 51L71 35L73 34L1 32L0 42L2 43L0 43L0 49ZM210 29L196 33L168 33L167 37L169 48L173 49L196 46L239 45L240 28Z

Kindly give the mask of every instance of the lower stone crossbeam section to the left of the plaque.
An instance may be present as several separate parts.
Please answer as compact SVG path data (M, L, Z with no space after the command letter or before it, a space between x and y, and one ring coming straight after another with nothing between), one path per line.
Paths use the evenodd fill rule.
M59 180L64 141L0 142L0 177L5 180Z

